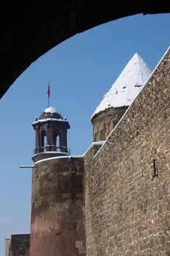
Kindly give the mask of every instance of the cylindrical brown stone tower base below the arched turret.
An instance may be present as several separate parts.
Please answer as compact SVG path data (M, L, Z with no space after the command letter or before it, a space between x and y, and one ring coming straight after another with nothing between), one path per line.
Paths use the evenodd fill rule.
M83 157L36 162L30 256L85 255L83 176Z

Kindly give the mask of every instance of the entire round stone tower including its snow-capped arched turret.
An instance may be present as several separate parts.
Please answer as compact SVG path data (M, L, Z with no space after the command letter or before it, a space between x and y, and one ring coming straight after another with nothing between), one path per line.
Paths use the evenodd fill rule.
M36 154L32 157L29 255L85 256L84 159L66 157L70 153L66 138L69 122L50 107L32 126L36 130ZM41 148L45 138L46 151ZM56 148L57 138L60 150Z

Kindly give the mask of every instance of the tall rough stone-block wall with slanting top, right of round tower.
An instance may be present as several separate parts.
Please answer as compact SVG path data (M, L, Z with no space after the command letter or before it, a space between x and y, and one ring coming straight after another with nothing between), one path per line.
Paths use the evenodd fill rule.
M85 154L87 256L170 255L169 74L170 50L96 156Z

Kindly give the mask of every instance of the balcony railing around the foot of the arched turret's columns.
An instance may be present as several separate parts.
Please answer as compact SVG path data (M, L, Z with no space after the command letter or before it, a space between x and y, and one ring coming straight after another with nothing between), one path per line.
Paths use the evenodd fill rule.
M39 147L34 149L34 154L39 154L43 152L56 151L58 153L64 153L70 155L71 150L65 146L55 146L55 145L47 145L44 147Z

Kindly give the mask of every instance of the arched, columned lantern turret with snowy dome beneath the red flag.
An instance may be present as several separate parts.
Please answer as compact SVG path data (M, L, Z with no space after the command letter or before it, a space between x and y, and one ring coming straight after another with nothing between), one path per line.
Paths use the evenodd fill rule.
M36 131L36 148L33 161L49 157L69 155L67 129L69 122L53 107L46 108L32 124Z

